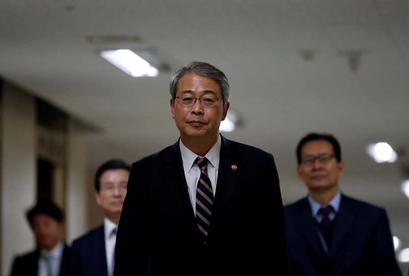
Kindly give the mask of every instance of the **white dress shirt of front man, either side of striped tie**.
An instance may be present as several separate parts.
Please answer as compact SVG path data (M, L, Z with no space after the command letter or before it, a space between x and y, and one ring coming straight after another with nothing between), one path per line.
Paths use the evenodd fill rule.
M221 148L221 139L220 135L217 139L216 144L206 153L205 156L209 160L208 165L208 175L210 182L212 182L213 195L216 194L216 183L217 183L217 173L219 170L219 160L220 160L220 148ZM193 214L196 216L196 187L197 182L200 178L200 168L199 165L195 163L195 159L198 157L196 153L188 149L183 143L182 140L179 140L180 154L182 155L183 169L185 171L186 183L188 185L188 191L190 196L190 202L192 203Z

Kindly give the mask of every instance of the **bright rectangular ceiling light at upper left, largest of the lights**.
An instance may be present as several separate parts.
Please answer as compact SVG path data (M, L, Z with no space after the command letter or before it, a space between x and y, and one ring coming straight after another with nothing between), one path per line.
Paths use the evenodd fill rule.
M131 50L102 51L101 57L132 77L156 77L159 71Z

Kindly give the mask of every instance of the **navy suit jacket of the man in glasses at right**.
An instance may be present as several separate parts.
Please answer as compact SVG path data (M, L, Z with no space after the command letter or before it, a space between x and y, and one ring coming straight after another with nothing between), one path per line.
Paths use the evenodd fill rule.
M285 206L284 214L291 275L323 275L325 253L308 199ZM331 276L400 275L385 210L343 195L327 262Z

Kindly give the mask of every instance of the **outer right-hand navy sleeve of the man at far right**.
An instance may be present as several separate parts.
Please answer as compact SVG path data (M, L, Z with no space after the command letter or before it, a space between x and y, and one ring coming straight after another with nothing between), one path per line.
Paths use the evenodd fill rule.
M381 210L376 225L376 264L377 271L382 271L379 275L401 275L395 259L388 216L384 209Z

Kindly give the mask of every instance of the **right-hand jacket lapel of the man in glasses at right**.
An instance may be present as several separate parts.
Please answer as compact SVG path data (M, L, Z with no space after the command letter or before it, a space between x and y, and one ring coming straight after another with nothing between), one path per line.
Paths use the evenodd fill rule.
M333 256L339 245L344 240L351 227L352 221L354 219L353 206L347 197L342 196L341 203L339 205L339 212L337 214L335 225L334 225L334 236L332 238L332 246L330 250L330 256Z

